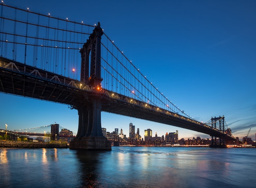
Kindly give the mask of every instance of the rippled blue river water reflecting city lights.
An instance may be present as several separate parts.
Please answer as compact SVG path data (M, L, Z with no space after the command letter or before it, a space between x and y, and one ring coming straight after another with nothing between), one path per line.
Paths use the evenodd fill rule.
M256 149L0 148L1 188L255 188Z

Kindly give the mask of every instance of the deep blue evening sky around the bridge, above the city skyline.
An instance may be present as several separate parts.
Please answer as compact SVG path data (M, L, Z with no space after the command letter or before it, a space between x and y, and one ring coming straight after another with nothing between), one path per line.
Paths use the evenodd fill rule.
M254 0L4 0L5 3L87 24L101 23L126 57L186 114L206 122L225 116L234 136L256 133L256 1ZM0 93L0 129L57 122L77 132L67 105ZM208 135L103 113L107 131L129 123L153 135L179 131L179 139Z

